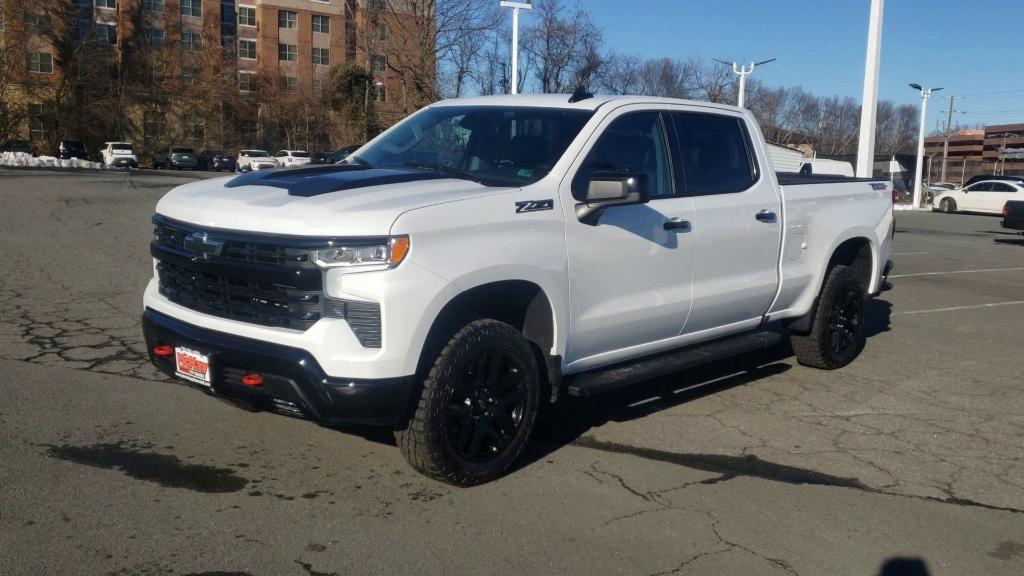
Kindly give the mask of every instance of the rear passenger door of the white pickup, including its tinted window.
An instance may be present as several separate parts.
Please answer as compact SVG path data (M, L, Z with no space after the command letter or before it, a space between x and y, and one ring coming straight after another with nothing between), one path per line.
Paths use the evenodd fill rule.
M739 113L674 112L681 186L693 201L692 304L684 333L756 326L778 289L781 199Z

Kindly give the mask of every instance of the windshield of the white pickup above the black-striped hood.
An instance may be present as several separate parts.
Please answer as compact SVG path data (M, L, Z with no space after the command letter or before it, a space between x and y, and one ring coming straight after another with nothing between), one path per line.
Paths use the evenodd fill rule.
M547 175L592 115L549 108L432 108L398 124L349 161L523 186Z

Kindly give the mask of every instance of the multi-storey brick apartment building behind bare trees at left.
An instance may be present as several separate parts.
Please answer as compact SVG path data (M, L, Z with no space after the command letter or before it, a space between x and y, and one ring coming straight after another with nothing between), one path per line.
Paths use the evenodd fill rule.
M396 36L411 35L419 22L400 2L0 0L0 97L23 105L20 117L7 111L6 131L31 139L41 153L60 138L128 139L142 156L172 140L283 148L288 131L268 126L281 120L275 114L296 107L316 108L305 124L321 126L304 140L292 138L293 146L333 150L362 137L332 133L328 121L337 116L325 94L331 71L351 64L370 72L365 99L380 124L411 108L408 98L392 95L404 90L401 75L388 66L396 49L409 49ZM83 85L98 95L77 102L82 114L90 113L91 100L103 99L105 108L91 113L105 118L114 106L120 117L95 134L67 133L61 126L78 123L61 124L51 102ZM0 130L4 120L0 114Z

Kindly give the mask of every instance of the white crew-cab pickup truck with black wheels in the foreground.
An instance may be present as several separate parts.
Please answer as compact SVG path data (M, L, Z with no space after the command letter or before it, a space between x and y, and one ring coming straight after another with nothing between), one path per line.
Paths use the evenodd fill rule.
M783 337L817 368L860 354L892 268L891 187L767 158L727 106L438 102L341 165L168 193L150 356L259 408L390 426L421 472L486 482L542 402Z

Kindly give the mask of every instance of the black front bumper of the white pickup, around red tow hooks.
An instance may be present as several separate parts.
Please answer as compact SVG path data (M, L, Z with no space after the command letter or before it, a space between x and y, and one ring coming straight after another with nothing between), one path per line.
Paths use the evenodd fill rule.
M309 353L185 324L146 308L142 316L150 360L173 376L174 357L154 353L159 345L187 346L210 356L211 393L258 409L301 416L327 425L397 427L413 406L412 376L356 380L328 376ZM245 374L262 376L258 387Z

